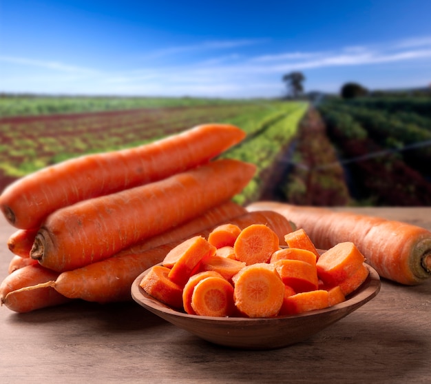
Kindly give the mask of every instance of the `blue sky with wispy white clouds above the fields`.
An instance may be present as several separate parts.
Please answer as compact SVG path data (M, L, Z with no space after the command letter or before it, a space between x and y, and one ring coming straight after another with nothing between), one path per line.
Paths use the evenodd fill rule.
M431 83L431 0L0 0L0 92L280 97Z

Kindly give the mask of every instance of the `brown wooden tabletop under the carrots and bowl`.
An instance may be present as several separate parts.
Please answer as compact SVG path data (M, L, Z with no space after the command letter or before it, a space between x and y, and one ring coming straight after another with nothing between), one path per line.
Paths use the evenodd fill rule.
M357 208L431 230L431 208ZM0 274L14 228L0 219ZM1 278L3 279L3 277ZM382 281L369 303L308 341L229 350L134 302L0 308L1 383L431 383L431 279Z

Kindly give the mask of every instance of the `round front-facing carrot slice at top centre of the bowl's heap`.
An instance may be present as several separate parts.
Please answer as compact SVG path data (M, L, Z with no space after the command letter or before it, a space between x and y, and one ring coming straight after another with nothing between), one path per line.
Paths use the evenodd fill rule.
M236 258L246 265L266 263L280 249L280 241L271 228L264 224L252 224L238 235L233 249Z

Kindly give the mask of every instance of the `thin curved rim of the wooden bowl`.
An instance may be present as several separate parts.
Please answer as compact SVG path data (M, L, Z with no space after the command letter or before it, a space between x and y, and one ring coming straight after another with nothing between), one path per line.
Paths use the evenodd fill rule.
M158 263L156 265L162 265L162 263ZM322 310L312 310L308 312L303 312L301 314L289 314L289 315L277 315L273 317L242 317L242 316L227 316L227 317L217 317L217 316L200 316L197 314L187 314L186 312L182 312L180 310L176 310L172 307L169 307L169 305L162 303L155 299L154 297L150 296L139 286L140 281L143 279L143 276L147 274L150 270L147 269L144 272L142 272L136 279L134 280L131 288L131 294L134 301L136 301L141 306L145 307L145 309L158 314L162 312L163 314L170 315L170 316L176 316L178 318L184 318L189 320L199 320L199 321L209 321L209 322L255 322L255 321L280 321L283 319L299 319L302 317L308 317L308 316L319 316L321 314L324 314L326 312L334 312L336 310L344 310L353 307L353 310L356 307L359 307L361 305L364 305L368 301L370 301L372 298L377 296L377 294L380 291L381 287L381 280L380 276L377 273L377 271L372 268L370 265L364 263L366 267L368 268L368 271L370 272L367 276L367 279L362 283L357 290L354 292L348 294L346 296L346 300L338 303L336 305L333 305L331 307L323 308Z

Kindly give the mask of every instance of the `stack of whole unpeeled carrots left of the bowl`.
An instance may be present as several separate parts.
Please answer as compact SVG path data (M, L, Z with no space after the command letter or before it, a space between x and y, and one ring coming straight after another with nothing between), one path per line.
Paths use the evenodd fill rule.
M232 198L255 165L217 156L244 139L233 125L199 125L137 148L90 154L12 183L0 209L17 231L0 285L15 312L83 299L131 299L136 277L189 236L232 221L291 231L276 212L246 212Z

